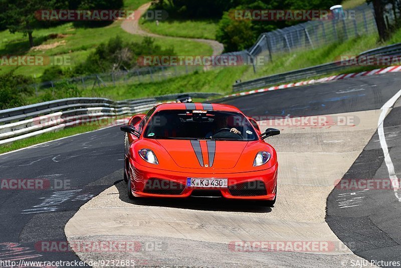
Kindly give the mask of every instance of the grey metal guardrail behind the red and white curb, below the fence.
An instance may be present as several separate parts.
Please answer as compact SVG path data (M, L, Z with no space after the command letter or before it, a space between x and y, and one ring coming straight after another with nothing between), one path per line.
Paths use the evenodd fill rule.
M394 56L401 55L401 43L389 45L385 47L380 47L376 49L371 49L360 53L358 56ZM330 62L321 65L316 65L308 68L298 69L294 71L289 71L285 73L273 74L269 76L264 76L233 85L233 91L243 91L256 89L261 87L266 87L279 83L292 82L299 79L307 79L319 75L330 74L336 71L344 71L352 66L341 65L340 62Z

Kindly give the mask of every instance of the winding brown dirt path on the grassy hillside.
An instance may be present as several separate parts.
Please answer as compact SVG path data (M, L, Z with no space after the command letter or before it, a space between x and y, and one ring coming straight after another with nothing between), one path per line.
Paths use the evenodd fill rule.
M138 12L135 12L135 15L140 18L143 13L150 7L151 3L144 4L138 8ZM150 36L150 37L156 37L156 38L165 38L165 37L170 37L170 36L163 36L163 35L156 35L153 33L146 32L142 30L139 27L139 20L125 20L121 24L121 28L133 35L141 35L141 36ZM173 37L176 39L181 39L181 40L191 40L199 43L205 43L208 44L209 46L212 47L213 49L213 55L220 55L223 52L224 46L223 44L217 42L216 40L210 40L210 39L200 39L200 38L183 38L183 37Z

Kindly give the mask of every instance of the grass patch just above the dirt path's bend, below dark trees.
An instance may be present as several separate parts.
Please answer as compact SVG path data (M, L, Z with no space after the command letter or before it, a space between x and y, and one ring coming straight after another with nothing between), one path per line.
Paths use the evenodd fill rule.
M174 37L216 39L217 23L219 20L172 20L140 22L142 29L148 32Z

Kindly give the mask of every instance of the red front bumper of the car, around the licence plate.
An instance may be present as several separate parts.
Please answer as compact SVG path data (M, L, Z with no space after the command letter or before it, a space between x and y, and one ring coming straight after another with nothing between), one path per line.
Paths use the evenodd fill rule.
M132 194L136 197L185 198L205 191L220 192L221 196L231 199L273 200L276 196L278 163L270 169L254 172L206 174L184 173L151 169L134 161L129 163ZM186 186L187 178L227 178L227 188L203 188ZM220 194L219 193L219 194Z

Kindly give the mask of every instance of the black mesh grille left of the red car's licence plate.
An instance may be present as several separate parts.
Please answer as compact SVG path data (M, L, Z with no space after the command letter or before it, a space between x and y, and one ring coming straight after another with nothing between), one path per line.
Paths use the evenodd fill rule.
M169 180L150 178L146 181L145 186L143 187L143 192L159 195L179 195L184 189L184 184Z

